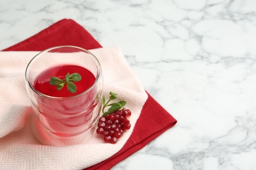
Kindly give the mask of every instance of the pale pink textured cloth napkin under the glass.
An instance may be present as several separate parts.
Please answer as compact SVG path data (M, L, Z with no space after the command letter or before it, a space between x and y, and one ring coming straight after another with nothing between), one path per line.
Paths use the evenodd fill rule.
M148 95L119 48L90 51L102 66L104 95L108 97L109 92L115 92L120 100L127 101L125 107L132 111L131 129L125 131L116 144L104 143L95 129L89 141L69 146L50 146L55 145L55 141L39 136L40 129L37 129L35 114L30 109L24 87L26 65L38 52L0 52L0 152L3 156L0 169L83 169L121 150L133 132ZM39 136L39 140L35 136Z

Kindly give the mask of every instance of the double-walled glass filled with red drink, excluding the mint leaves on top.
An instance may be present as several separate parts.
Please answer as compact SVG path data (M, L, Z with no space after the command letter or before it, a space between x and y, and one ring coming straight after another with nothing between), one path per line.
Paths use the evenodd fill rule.
M75 93L69 92L66 84L57 90L49 83L52 76L64 79L67 73L81 75L81 80L74 82ZM39 126L53 145L90 139L100 113L103 83L100 63L93 54L75 46L45 50L28 64L26 82Z

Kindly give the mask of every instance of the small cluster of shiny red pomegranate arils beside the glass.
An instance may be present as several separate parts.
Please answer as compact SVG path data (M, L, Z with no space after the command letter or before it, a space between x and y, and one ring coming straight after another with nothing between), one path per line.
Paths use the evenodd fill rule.
M123 135L123 131L131 128L128 119L130 116L131 110L125 108L102 116L98 120L96 133L104 135L104 141L106 143L114 144Z

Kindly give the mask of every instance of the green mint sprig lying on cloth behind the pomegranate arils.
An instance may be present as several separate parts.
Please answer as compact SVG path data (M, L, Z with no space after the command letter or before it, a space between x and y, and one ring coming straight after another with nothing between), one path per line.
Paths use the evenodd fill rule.
M121 109L122 107L125 106L126 101L119 101L119 102L116 102L116 103L108 104L108 103L110 103L110 101L112 101L114 99L117 99L117 94L116 93L110 92L110 98L108 99L107 102L106 102L106 98L103 95L103 97L102 97L102 102L103 102L102 112L103 112L103 115L102 116L106 116L107 114L110 114L111 112L119 110L119 109ZM104 109L106 107L110 107L110 108L108 109L108 111L104 112Z

